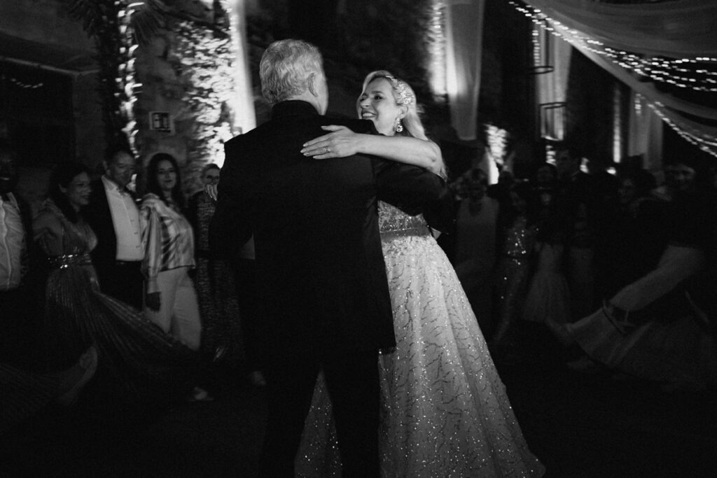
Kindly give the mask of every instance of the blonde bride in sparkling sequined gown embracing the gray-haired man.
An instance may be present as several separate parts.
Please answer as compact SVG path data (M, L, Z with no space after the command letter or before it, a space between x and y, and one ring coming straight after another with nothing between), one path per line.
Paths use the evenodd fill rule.
M425 138L422 128L416 130L415 123L420 123L412 90L387 72L366 77L358 108L362 118L374 120L380 133L393 135L397 131L398 114L405 124L399 129ZM415 118L409 118L412 115ZM323 153L318 157L329 158L345 156L347 144L352 144L348 150L353 150L351 141L374 141L356 136L336 128L311 143L319 152L328 146L333 156ZM383 139L383 143L416 141ZM359 148L386 156L363 143ZM442 168L440 157L436 163L426 163L405 156L392 158L415 161L433 171ZM397 340L394 353L379 357L381 475L541 476L544 469L523 439L465 292L423 216L409 216L379 202L379 226ZM295 473L300 477L341 476L331 399L321 376L305 422Z

